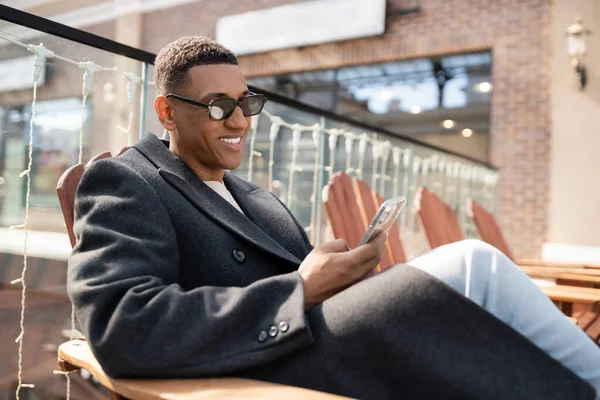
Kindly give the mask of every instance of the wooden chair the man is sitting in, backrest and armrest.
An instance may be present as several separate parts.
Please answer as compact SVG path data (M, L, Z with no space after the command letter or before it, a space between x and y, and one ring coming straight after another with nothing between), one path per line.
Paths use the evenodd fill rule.
M124 153L127 149L124 148L118 155ZM98 154L86 166L108 157L111 157L111 153ZM56 187L72 246L75 246L76 243L73 234L75 192L83 172L84 166L82 164L69 168L63 173ZM207 379L111 379L104 373L83 338L71 340L59 346L58 366L65 372L79 369L87 370L110 391L112 400L188 400L203 398L336 400L346 398L293 386L230 377Z

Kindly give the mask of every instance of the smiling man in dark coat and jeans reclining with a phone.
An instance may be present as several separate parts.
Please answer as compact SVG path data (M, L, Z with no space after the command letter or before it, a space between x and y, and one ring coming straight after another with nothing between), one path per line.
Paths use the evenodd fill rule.
M229 50L182 38L155 74L170 141L94 163L77 193L68 291L108 375L236 374L373 399L594 396L571 370L597 379L579 355L595 344L491 247L447 246L364 279L384 235L313 249L274 196L226 173L265 101ZM578 355L560 355L563 342Z

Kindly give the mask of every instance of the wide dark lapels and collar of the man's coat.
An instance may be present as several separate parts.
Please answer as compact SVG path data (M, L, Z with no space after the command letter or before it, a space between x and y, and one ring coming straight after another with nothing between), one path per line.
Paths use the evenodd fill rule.
M158 169L158 173L170 185L175 187L198 210L214 222L220 224L234 235L252 243L274 256L294 264L300 264L297 256L278 243L278 228L271 226L258 215L264 215L263 189L249 184L230 173L226 173L223 182L246 215L241 214L229 202L202 182L196 174L168 148L167 141L161 141L154 135L148 135L133 147L140 151ZM270 194L267 195L270 196ZM270 199L273 204L274 199ZM262 203L262 204L261 204ZM272 236L275 235L275 236Z

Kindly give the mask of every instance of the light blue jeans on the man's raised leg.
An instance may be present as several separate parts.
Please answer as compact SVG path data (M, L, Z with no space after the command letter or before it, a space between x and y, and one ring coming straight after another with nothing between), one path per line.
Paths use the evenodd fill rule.
M598 345L496 248L478 240L464 240L431 250L408 264L435 276L504 321L600 394Z

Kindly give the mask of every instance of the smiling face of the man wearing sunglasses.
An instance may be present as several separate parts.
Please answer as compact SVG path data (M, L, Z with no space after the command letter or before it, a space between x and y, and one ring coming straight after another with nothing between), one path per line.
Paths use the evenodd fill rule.
M217 64L192 67L189 85L176 94L208 104L217 98L239 100L249 93L248 86L237 65ZM167 100L175 124L171 147L197 174L222 175L225 169L235 169L242 163L242 152L252 117L245 117L236 107L231 117L213 121L208 110L181 102ZM163 123L164 125L164 123ZM166 126L166 125L165 125ZM190 165L192 164L192 165Z

